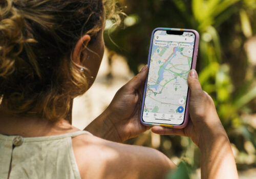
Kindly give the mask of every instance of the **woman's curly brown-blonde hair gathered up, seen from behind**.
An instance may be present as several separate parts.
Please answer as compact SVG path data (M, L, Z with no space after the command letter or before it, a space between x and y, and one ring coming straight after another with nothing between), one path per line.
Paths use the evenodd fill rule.
M115 12L114 0L0 0L1 107L65 118L72 99L88 89L73 48L83 34L93 43L104 15Z

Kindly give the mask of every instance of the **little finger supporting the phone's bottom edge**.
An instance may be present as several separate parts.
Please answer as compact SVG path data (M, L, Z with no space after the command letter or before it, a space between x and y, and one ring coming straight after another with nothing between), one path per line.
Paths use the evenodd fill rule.
M161 126L154 126L151 128L151 131L159 135L178 135L186 136L183 129L167 128Z

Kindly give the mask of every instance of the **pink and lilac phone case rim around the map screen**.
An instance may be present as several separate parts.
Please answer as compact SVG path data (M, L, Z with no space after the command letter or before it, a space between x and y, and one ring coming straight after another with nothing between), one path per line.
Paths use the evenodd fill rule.
M148 59L147 59L147 65L148 68L150 67L150 60L151 60L151 51L152 51L152 43L153 43L153 38L154 38L154 33L158 30L163 30L163 31L184 31L184 32L193 32L195 34L195 47L194 47L194 52L193 52L193 59L192 59L192 64L191 64L191 69L196 69L196 63L197 63L197 54L198 54L198 46L199 46L199 33L196 30L192 29L175 29L175 28L156 28L152 32L151 36L151 43L150 43L150 52L148 53ZM141 107L141 115L140 115L140 120L141 123L147 126L163 126L163 127L172 127L172 128L184 128L187 125L188 121L188 101L190 97L190 90L188 88L188 95L187 95L187 103L186 103L186 108L185 108L185 116L184 116L184 122L181 125L172 125L172 124L161 124L161 123L147 123L144 122L142 119L142 114L143 114L143 108L144 108L144 100L145 100L145 92L146 92L146 84L147 84L147 78L144 86L144 92L143 92L143 101L142 101L142 107Z

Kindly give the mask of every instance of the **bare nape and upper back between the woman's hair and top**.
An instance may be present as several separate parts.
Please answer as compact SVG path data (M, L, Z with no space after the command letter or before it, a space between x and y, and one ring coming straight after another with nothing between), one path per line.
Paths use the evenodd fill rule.
M0 111L0 133L3 135L19 135L23 137L54 136L63 133L77 131L65 119L52 122L38 117L36 114L28 114L16 117Z

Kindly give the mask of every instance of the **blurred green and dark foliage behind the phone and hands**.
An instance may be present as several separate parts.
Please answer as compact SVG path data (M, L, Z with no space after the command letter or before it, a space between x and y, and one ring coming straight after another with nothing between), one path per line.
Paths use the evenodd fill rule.
M119 0L118 6L122 24L116 27L113 19L106 20L105 45L109 54L122 55L135 74L147 63L153 29L196 29L200 33L197 71L202 87L215 101L238 169L255 168L256 1ZM126 143L165 153L181 166L170 174L173 178L193 177L200 168L200 151L185 137L160 137L148 131ZM180 175L184 170L191 175Z

